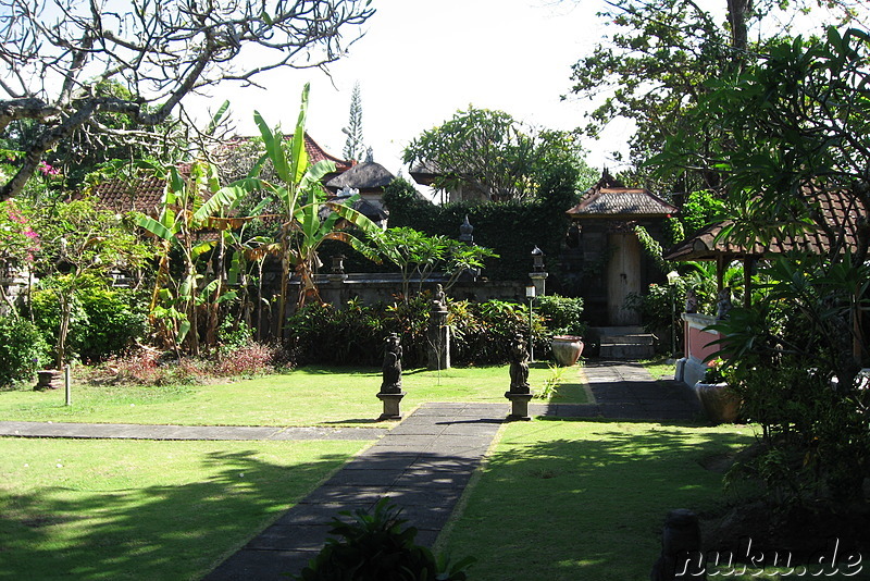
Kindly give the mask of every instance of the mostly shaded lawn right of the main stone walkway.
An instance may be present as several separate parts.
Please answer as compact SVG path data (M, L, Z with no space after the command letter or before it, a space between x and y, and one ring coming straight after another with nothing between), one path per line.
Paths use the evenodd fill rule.
M679 424L560 422L508 430L471 491L445 544L477 556L474 579L647 579L664 515L721 503L722 475L700 461L753 442Z

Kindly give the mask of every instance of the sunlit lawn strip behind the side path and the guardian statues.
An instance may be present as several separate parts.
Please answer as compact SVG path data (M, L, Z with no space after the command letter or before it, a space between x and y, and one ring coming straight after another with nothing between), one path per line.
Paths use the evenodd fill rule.
M585 401L580 368L563 373L557 401ZM545 363L530 370L533 390L550 375ZM425 401L505 404L508 367L409 370L403 376L410 411ZM307 367L281 375L213 385L135 386L74 384L72 406L63 390L0 392L0 420L182 425L385 425L375 422L381 370Z

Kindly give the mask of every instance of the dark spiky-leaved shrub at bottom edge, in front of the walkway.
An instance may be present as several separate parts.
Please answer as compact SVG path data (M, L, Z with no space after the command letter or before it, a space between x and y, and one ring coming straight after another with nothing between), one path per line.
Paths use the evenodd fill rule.
M464 581L464 570L474 559L465 558L449 567L428 548L414 543L417 529L405 528L395 505L382 498L373 514L357 509L341 512L352 517L333 519L326 546L302 569L299 581Z

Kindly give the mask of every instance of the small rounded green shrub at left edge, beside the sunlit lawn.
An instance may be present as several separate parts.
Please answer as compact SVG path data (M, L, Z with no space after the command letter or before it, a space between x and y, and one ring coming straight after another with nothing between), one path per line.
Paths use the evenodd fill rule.
M33 376L49 361L49 347L26 319L0 318L0 385Z

